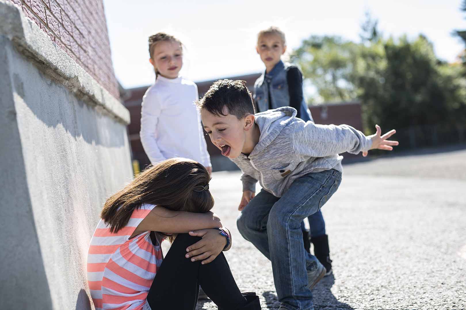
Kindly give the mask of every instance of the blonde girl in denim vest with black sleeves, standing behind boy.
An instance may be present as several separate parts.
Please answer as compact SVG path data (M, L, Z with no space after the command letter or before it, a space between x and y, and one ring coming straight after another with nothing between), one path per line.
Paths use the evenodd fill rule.
M286 51L285 34L277 27L269 27L259 32L256 51L266 66L265 72L254 83L254 105L256 111L264 112L282 106L296 109L296 117L305 122L312 119L302 91L302 73L293 64L281 61ZM309 233L302 223L303 241L306 251L310 250L310 242L314 244L315 257L327 270L326 276L332 273L329 240L325 233L325 222L322 212L318 211L308 217Z

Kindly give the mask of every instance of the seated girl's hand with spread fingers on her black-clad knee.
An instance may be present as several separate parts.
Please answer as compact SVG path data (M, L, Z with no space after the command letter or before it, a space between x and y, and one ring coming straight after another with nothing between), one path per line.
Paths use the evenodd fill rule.
M191 257L191 261L203 260L201 264L208 264L217 257L226 245L226 237L219 234L216 229L202 229L190 231L191 236L202 237L201 240L188 246L186 258Z

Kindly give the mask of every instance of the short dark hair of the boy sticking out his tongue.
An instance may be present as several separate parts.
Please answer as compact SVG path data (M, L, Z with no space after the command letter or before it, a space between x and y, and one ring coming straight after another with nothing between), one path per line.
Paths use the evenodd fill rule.
M237 119L255 113L251 92L247 90L246 82L241 80L219 79L196 105L199 111L206 109L216 116L226 116L227 114L223 114L226 107L228 113Z

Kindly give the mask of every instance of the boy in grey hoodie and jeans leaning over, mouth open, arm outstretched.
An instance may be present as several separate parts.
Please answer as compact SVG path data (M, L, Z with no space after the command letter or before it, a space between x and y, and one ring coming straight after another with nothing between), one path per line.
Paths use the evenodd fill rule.
M391 151L398 142L387 139L395 130L381 136L376 125L366 137L349 125L304 122L292 107L254 115L251 93L238 80L215 82L197 105L212 143L243 172L238 229L272 262L280 310L314 309L310 289L325 268L304 250L301 222L338 189L338 153Z

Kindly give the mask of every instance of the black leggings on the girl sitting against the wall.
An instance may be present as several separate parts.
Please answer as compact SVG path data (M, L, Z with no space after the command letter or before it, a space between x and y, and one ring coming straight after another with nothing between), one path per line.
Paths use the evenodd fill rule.
M209 264L192 262L186 258L186 248L200 237L178 234L147 295L152 309L193 310L199 294L199 285L222 310L238 309L247 303L233 279L223 253Z

